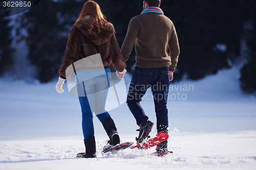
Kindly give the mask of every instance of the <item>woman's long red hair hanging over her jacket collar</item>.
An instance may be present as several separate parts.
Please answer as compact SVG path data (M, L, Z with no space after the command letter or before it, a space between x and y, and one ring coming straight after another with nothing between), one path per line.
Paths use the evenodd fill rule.
M90 18L84 20L83 23L89 26L89 34L95 27L97 28L98 33L100 32L100 27L112 28L114 30L113 25L108 24L106 17L103 15L103 13L101 12L101 8L96 2L88 1L84 3L82 7L82 12L80 13L80 16L77 18L76 22L78 22L86 15L90 15Z

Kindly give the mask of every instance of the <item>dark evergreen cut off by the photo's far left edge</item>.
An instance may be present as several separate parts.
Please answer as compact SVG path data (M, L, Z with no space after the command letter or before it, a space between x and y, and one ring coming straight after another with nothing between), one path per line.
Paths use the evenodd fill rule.
M10 70L13 64L12 54L14 49L11 47L12 43L12 26L10 26L10 19L6 17L5 10L0 7L0 75L5 71Z

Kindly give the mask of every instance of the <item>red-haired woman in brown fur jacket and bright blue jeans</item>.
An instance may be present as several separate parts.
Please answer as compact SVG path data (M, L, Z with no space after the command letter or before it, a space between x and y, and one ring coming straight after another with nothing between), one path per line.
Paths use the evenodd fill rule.
M104 110L109 88L109 74L107 73L110 72L110 65L112 64L117 70L117 76L120 79L122 79L126 71L126 64L114 33L113 25L106 21L99 5L94 1L86 2L83 5L80 16L69 32L67 51L59 70L60 77L56 84L56 90L60 93L63 92L62 84L69 76L66 75L67 67L71 64L74 67L76 61L81 61L81 59L86 57L89 58L89 56L99 54L107 75L105 78L85 77L83 80L76 81L78 98L82 110L82 132L86 147L84 157L86 158L96 157L93 112L95 114L97 112L96 116L110 137L109 143L111 145L120 143L114 121L110 114ZM84 75L86 76L88 74L85 72ZM89 95L89 91L100 92ZM90 107L92 106L92 101L94 107ZM102 112L102 108L104 112ZM101 110L101 112L98 112L98 110Z

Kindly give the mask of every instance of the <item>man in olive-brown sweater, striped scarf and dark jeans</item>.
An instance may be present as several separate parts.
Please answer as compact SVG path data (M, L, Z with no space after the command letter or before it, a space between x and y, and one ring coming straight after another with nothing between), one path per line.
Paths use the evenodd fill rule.
M147 88L151 87L157 117L157 132L168 133L167 95L180 53L173 22L159 8L161 0L144 0L143 11L133 17L121 47L128 60L135 43L135 70L127 95L127 105L140 127L137 143L145 139L153 127L140 105ZM169 48L169 52L167 52ZM157 145L157 154L168 153L167 141Z

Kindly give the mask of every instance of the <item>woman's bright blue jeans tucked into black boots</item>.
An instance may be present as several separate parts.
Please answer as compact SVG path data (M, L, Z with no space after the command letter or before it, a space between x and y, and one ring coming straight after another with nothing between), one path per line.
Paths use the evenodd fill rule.
M109 78L88 78L76 83L82 111L82 132L84 139L94 136L93 113L102 123L105 117L111 117L105 110L109 91Z

